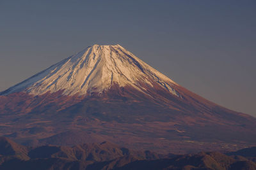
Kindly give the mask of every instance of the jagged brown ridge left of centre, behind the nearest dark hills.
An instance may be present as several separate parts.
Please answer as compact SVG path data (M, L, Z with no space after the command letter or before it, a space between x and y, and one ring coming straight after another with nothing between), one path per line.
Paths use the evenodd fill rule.
M103 143L86 143L73 147L52 145L39 146L30 150L28 156L31 159L63 158L88 162L109 161L124 156L132 156L136 159L159 159L157 153L130 150L106 141Z

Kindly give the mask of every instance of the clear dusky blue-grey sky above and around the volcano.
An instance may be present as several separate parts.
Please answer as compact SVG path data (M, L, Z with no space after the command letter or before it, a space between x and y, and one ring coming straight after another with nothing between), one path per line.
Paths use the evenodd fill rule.
M256 117L256 1L0 1L0 91L93 44Z

